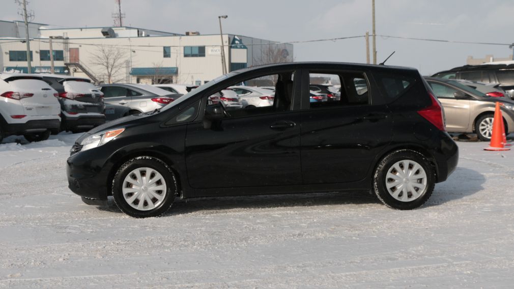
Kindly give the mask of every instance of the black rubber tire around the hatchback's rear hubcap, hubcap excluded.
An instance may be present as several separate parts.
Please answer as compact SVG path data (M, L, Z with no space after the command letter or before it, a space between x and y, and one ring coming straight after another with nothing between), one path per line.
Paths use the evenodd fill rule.
M403 196L403 193L406 194L407 200L400 201L397 200L393 196L393 193L395 190L397 190L396 187L392 187L391 190L393 193L390 193L387 188L387 183L394 182L393 178L388 178L388 171L392 169L394 172L395 169L393 166L397 164L399 161L407 160L409 162L416 162L423 170L425 171L426 175L426 184L425 188L423 189L423 192L419 193L419 196L414 196L411 191L399 191L397 197ZM409 169L411 169L409 164ZM401 166L401 164L400 164ZM412 168L414 169L414 168ZM416 174L418 173L418 174ZM422 171L420 169L414 171L414 176L421 176L420 173ZM401 178L401 176L400 176ZM403 178L403 183L405 183L406 178ZM420 180L419 180L420 181ZM401 182L401 180L400 180ZM414 183L412 179L410 180L411 184ZM417 182L417 181L416 181ZM397 210L412 210L415 208L420 207L421 205L425 204L427 202L430 195L432 195L432 192L434 191L435 186L435 173L434 169L432 168L430 161L423 156L422 154L412 151L412 150L399 150L390 153L386 157L384 157L378 164L375 174L373 175L373 189L375 191L375 194L379 198L379 200L386 206L397 209ZM408 188L408 187L407 187ZM412 189L415 189L414 186L411 186ZM419 190L419 188L418 188ZM418 191L416 191L417 193ZM409 198L412 198L412 200L408 200Z

